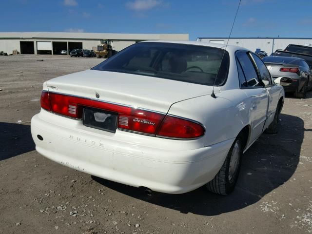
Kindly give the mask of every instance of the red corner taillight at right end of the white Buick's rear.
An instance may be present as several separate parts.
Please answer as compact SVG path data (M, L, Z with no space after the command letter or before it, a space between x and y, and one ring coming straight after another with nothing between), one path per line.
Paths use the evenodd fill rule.
M195 138L203 136L204 133L204 128L198 123L179 117L166 116L157 135L174 138Z

